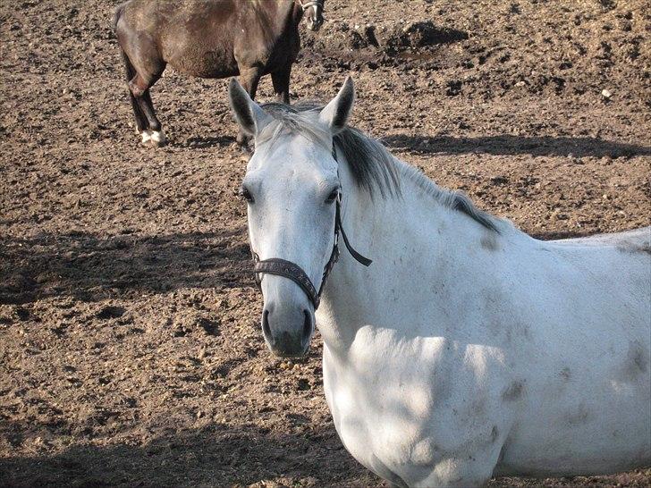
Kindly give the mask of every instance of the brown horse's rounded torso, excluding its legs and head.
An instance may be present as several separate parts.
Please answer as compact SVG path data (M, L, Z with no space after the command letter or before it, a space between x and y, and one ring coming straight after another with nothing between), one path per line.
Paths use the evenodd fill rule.
M148 61L157 57L190 76L234 76L240 73L238 65L268 72L270 64L293 61L279 57L295 57L286 48L280 53L274 48L285 27L276 25L280 8L265 0L131 0L123 6L118 38L127 39L121 45L128 55L140 51Z

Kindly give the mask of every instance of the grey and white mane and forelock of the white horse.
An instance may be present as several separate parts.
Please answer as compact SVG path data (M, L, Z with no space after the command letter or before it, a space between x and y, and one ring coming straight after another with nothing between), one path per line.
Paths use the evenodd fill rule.
M323 145L329 144L329 133L316 122L316 115L323 109L323 105L314 102L300 102L295 105L268 103L262 107L275 122L265 127L258 137L258 142L275 139L289 131L300 133ZM435 198L442 206L468 215L487 229L499 232L499 219L479 210L463 193L437 186L425 173L393 157L378 140L349 126L337 133L333 139L335 151L346 158L353 181L359 188L367 190L371 198L376 190L382 198L402 196L403 177Z

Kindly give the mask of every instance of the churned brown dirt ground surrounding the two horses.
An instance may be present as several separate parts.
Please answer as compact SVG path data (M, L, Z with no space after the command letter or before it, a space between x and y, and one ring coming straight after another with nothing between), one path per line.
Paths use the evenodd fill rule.
M171 142L141 147L116 4L0 5L0 485L385 486L334 432L318 340L263 343L226 80L165 72ZM647 0L325 4L294 98L351 73L354 125L541 239L651 222Z

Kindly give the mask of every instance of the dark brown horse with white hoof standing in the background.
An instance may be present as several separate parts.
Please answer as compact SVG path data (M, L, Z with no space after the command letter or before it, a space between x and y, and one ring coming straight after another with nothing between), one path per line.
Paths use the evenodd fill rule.
M131 104L142 142L160 146L165 135L149 88L169 63L199 78L240 75L255 97L271 73L280 101L290 101L290 73L300 49L299 22L323 23L324 0L129 0L114 17L127 69ZM237 141L245 146L240 131Z

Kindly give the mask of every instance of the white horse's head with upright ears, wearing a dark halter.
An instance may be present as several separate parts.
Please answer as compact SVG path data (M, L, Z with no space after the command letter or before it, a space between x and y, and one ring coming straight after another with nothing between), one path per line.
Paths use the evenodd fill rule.
M249 240L264 297L262 331L278 356L309 349L320 288L334 264L340 182L333 137L345 127L355 91L349 78L323 109L265 108L231 81L232 113L256 149L241 184Z

